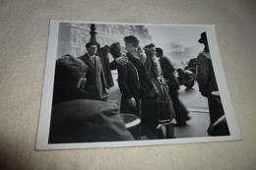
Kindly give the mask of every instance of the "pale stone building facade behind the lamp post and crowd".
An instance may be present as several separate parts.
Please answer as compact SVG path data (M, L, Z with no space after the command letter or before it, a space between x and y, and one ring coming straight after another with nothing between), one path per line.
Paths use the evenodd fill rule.
M85 45L91 38L90 27L91 24L61 23L59 25L57 58L64 54L71 54L75 57L85 54ZM152 36L145 26L96 24L96 32L96 41L101 47L116 41L124 45L123 37L127 35L138 37L142 46L152 42Z

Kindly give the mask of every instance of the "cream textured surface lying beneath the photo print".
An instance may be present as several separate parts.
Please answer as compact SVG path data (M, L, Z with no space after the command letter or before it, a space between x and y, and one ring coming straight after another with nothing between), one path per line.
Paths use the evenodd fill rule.
M255 169L255 2L0 0L1 169ZM239 142L35 151L50 19L214 24Z

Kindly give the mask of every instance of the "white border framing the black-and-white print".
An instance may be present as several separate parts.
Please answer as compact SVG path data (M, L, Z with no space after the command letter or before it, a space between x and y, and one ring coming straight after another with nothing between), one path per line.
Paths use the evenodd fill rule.
M216 79L224 105L224 114L229 128L230 136L224 137L199 137L199 138L182 138L170 140L149 140L149 141L132 141L132 142L78 142L78 143L48 143L52 93L54 84L55 62L57 57L58 30L60 23L81 23L81 24L114 24L114 25L143 25L143 26L168 26L168 27L205 27L208 37L209 48L211 51L213 66L215 69ZM200 36L200 35L199 35ZM236 117L231 103L224 76L223 63L218 47L216 31L214 25L152 25L152 24L135 24L135 23L104 23L104 22L79 22L79 21L62 21L51 20L48 37L48 48L44 83L41 98L41 108L38 121L37 138L35 149L71 149L71 148L94 148L94 147L116 147L116 146L139 146L139 145L156 145L156 144L173 144L188 142L222 142L241 140L241 135L236 122Z

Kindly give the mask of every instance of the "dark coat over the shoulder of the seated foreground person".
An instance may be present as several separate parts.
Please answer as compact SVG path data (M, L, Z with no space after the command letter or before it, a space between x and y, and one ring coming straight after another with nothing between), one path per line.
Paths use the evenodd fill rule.
M80 99L53 106L49 143L134 140L116 112L117 105Z

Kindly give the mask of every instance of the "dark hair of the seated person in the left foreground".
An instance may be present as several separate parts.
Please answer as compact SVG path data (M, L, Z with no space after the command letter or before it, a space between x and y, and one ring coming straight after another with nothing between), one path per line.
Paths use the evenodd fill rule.
M75 86L87 70L88 66L82 60L66 54L56 61L55 82Z

